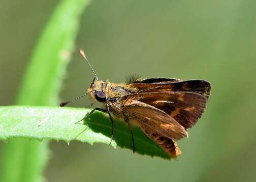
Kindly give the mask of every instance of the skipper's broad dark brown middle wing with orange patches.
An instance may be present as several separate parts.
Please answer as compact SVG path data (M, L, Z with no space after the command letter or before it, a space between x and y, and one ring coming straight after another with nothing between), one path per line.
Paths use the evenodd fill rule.
M207 102L204 96L192 92L140 93L131 97L164 111L185 129L195 125Z

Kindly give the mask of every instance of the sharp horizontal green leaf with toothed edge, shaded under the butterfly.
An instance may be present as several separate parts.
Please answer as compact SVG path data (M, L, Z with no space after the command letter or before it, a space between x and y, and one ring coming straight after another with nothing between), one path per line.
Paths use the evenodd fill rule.
M89 144L110 143L111 122L107 114L94 112L88 116L90 109L59 107L0 107L0 139L12 138L52 139L81 141ZM80 119L86 118L78 124ZM138 127L133 128L135 148L139 154L169 158L167 153ZM121 121L114 121L113 147L133 148L129 128ZM132 151L131 151L132 152Z

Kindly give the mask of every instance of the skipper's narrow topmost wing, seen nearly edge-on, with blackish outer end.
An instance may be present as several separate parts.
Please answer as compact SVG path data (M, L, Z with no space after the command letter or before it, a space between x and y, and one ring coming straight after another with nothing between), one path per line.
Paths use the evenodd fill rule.
M205 80L166 81L159 83L134 83L141 93L153 92L194 92L205 96L211 93L211 84Z

